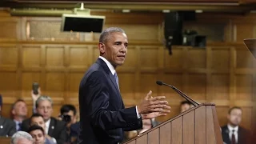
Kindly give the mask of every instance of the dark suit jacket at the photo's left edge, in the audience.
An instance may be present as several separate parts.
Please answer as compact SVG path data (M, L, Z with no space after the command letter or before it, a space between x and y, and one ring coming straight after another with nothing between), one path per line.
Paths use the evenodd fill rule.
M11 137L16 131L16 124L13 120L0 117L0 136Z

